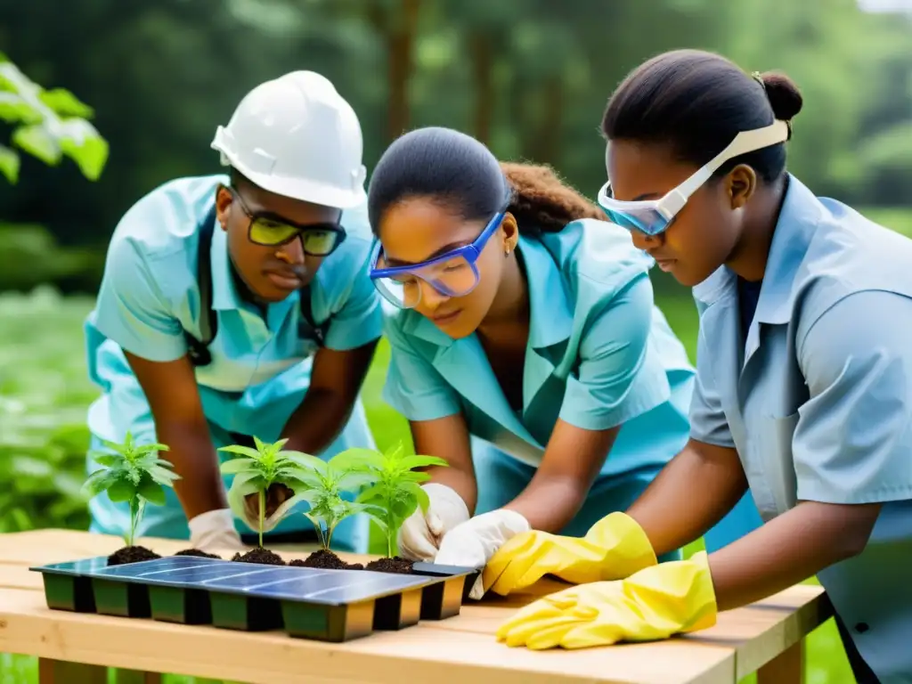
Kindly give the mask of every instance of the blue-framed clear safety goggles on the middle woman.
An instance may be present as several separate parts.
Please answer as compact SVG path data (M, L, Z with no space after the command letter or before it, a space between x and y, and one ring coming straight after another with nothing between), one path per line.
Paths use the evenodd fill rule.
M500 227L505 213L504 208L494 214L482 233L471 244L464 244L420 264L389 265L383 254L383 247L377 241L371 256L373 268L370 269L370 278L374 286L391 304L406 309L419 305L422 282L433 287L440 295L468 295L478 285L480 278L475 262L482 255L484 245Z

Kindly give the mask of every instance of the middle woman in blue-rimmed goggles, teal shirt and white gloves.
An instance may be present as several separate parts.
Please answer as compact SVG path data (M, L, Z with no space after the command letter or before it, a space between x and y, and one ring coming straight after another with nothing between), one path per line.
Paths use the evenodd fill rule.
M611 572L655 563L622 512L686 443L694 370L651 260L550 169L501 165L455 130L396 140L368 212L391 305L384 399L449 464L428 471L400 553L481 567L534 529L561 549L543 573L585 573L593 549ZM527 584L482 578L472 596Z

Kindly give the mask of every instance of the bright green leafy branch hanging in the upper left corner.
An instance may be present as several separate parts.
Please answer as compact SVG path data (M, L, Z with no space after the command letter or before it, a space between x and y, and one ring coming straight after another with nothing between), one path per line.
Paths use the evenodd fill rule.
M0 53L0 119L16 126L12 143L20 150L49 166L67 155L86 178L96 181L109 147L88 122L94 114L68 90L37 85ZM5 145L0 145L0 173L11 183L19 178L19 154Z

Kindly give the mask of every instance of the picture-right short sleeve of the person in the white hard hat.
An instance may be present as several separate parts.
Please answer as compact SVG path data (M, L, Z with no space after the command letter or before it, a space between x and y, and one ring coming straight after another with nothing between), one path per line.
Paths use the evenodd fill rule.
M383 314L380 295L369 276L369 252L354 275L333 274L353 278L345 303L332 316L326 331L326 347L354 349L378 339L383 333Z

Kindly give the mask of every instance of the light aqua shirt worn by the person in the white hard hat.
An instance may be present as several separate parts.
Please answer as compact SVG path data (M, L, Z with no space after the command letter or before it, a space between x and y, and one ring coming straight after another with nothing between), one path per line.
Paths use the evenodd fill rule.
M184 330L201 336L198 225L212 210L219 182L228 178L182 178L161 185L130 208L111 237L98 300L85 325L89 377L103 391L88 411L88 427L97 438L119 441L127 430L140 440L155 437L148 403L122 349L170 361L187 351ZM326 347L332 349L360 347L382 332L380 297L368 278L372 238L366 205L344 212L342 224L346 240L326 257L310 285L313 317L329 319ZM277 440L304 399L316 348L298 334L299 295L270 304L265 316L244 302L217 223L211 264L218 334L209 346L212 363L196 369L203 411L222 440L230 432ZM358 405L326 455L371 444ZM309 524L297 517L295 527Z

